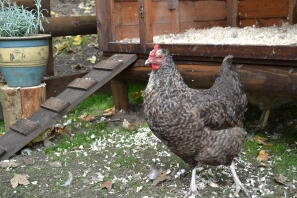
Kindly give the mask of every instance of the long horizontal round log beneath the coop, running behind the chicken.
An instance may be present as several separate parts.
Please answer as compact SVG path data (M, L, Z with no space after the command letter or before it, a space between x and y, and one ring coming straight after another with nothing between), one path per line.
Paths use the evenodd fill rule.
M134 65L141 65L137 61ZM209 88L219 74L220 63L195 62L192 64L177 63L184 80L198 88ZM242 65L237 67L247 91L261 95L297 96L297 70L292 67ZM147 81L149 67L130 67L122 72L123 80Z

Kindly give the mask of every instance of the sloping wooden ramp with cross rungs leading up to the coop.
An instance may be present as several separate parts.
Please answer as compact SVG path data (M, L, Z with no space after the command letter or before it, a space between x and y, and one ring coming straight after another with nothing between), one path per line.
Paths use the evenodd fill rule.
M0 137L0 160L8 159L22 149L136 59L135 54L115 54L99 62L90 73L75 79L58 96L45 101L39 111L18 120Z

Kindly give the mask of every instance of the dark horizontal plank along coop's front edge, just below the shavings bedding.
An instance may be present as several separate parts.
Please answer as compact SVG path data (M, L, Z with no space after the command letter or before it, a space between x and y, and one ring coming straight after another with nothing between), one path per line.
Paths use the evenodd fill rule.
M122 44L111 42L110 52L121 53L148 53L154 44L147 44L146 51L139 48L138 44ZM199 45L199 44L160 44L166 48L174 57L188 57L188 59L199 57L225 57L229 54L237 59L248 60L249 63L265 64L266 61L277 61L279 65L289 64L296 67L297 46L256 46L256 45ZM263 62L263 60L265 60ZM293 61L293 62L291 62Z

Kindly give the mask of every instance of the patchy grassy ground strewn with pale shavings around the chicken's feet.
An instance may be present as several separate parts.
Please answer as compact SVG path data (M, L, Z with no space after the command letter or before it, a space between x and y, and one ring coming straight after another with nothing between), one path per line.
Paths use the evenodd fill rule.
M140 102L138 90L142 88L130 88L131 102ZM9 162L16 162L17 167L0 168L0 197L184 197L190 170L152 135L143 121L141 104L135 104L135 111L129 114L118 113L106 120L98 116L111 105L109 94L90 97L60 122L66 130L50 140L55 145L37 143L28 147L31 155L14 156ZM255 120L259 113L249 106L247 121ZM79 119L81 115L98 117L89 122ZM266 129L248 128L236 164L240 179L253 197L297 196L296 117L295 106L282 107L272 112ZM124 119L138 122L138 129L123 128ZM261 141L269 144L264 146ZM260 150L268 154L267 161L257 161ZM147 177L151 167L162 169L168 178L153 185ZM69 173L73 180L65 187ZM27 175L29 184L14 189L10 180L15 174ZM233 180L226 167L203 167L198 171L197 183L203 197L233 194ZM111 189L103 188L110 184Z

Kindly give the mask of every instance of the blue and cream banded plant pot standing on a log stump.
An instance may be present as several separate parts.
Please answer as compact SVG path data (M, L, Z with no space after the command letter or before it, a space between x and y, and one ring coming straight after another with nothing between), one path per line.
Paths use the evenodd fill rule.
M50 37L0 37L0 68L8 86L31 87L42 82Z

